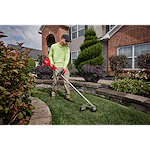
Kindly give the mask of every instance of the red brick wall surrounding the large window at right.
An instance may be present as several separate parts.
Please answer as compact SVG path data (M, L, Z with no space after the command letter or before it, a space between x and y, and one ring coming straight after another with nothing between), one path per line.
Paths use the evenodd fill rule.
M108 58L110 58L112 55L117 55L117 48L120 46L134 45L147 42L150 42L149 25L124 25L108 41ZM108 60L108 76L113 75L114 73L110 69L110 62Z

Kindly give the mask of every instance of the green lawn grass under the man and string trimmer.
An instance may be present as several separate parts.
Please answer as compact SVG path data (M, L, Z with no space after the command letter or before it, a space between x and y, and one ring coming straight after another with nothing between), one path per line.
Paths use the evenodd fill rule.
M43 100L52 112L53 126L150 126L150 114L146 114L112 101L83 94L92 102L97 112L80 112L86 102L76 92L71 91L74 103L65 100L65 91L58 90L56 99L50 97L51 89L34 88L32 96Z

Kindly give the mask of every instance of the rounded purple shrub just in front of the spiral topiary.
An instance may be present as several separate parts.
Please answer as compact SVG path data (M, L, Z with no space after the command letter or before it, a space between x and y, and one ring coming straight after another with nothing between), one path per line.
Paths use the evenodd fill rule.
M83 65L81 67L82 76L87 82L95 82L104 77L104 69L100 65L91 66L91 65Z

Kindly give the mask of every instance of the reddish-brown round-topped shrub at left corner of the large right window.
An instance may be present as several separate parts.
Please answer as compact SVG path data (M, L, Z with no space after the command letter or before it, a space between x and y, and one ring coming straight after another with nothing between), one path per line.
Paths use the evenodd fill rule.
M123 71L123 68L128 65L128 59L125 55L111 56L109 61L111 70L117 76L120 72Z

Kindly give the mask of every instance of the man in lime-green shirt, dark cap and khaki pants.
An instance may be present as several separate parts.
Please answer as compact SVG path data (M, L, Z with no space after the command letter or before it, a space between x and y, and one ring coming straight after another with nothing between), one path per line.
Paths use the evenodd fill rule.
M69 63L70 60L70 49L67 46L68 42L71 42L71 39L68 35L63 35L61 37L61 41L58 43L55 43L51 46L50 48L50 52L49 52L49 59L51 62L51 68L53 69L53 89L52 89L52 99L55 99L56 94L57 94L57 83L59 80L59 77L57 76L57 72L55 71L55 69L57 68L57 70L61 73L64 74L64 77L69 80L69 76L70 76L70 72L67 68L67 65ZM70 98L70 86L69 84L64 80L64 86L65 86L65 90L66 90L66 100L70 101L70 102L74 102L71 98Z

